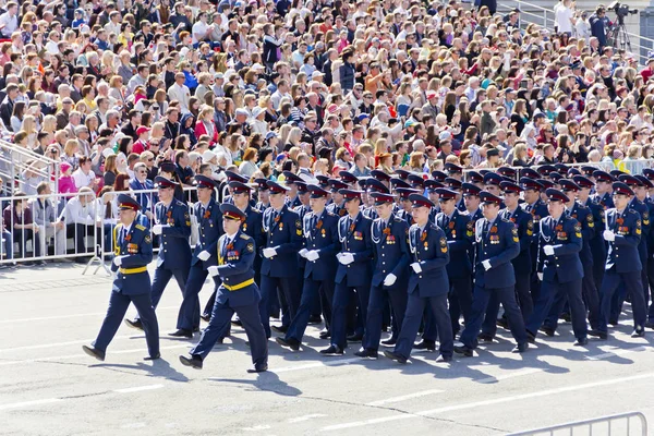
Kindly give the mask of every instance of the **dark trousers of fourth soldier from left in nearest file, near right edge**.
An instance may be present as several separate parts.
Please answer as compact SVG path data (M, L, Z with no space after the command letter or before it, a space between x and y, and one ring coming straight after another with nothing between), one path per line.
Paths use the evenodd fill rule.
M611 315L613 300L616 290L622 284L622 289L631 295L631 312L633 313L633 327L642 329L645 326L646 308L643 296L643 286L640 271L616 272L615 266L606 271L602 290L600 291L600 324L597 330L606 332L606 325Z

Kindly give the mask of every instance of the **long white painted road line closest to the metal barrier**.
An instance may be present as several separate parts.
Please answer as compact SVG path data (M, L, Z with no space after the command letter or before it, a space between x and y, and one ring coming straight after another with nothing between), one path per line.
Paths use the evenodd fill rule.
M429 416L429 415L452 412L452 411L459 411L459 410L475 409L475 408L480 408L480 407L484 407L484 405L497 405L497 404L502 404L502 403L508 403L508 402L513 402L513 401L519 401L519 400L528 400L528 399L532 399L532 398L546 397L546 396L558 395L558 393L573 392L577 390L584 390L584 389L596 388L596 387L601 387L601 386L618 385L618 384L622 384L625 382L642 380L645 378L654 378L654 373L646 373L646 374L634 375L631 377L621 377L621 378L613 378L613 379L608 379L608 380L586 383L583 385L566 386L566 387L561 387L561 388L556 388L556 389L538 390L535 392L523 393L523 395L511 396L511 397L500 397L500 398L495 398L492 400L467 402L467 403L462 403L462 404L448 405L448 407L439 408L439 409L424 410L422 412L410 413L410 414L404 413L404 414L400 414L400 415L391 415L391 416L385 416L385 417L378 417L378 419L372 419L372 420L365 420L365 421L353 421L353 422L343 423L343 424L328 425L326 427L320 428L320 432L334 432L334 431L340 431L340 429L344 429L344 428L362 427L365 425L379 424L379 423L390 422L390 421L409 420L409 419L415 419L415 417L420 417L420 416Z

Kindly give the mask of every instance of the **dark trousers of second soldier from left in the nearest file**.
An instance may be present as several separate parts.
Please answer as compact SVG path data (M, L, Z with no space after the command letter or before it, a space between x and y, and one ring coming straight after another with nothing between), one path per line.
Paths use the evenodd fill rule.
M511 329L511 335L518 342L518 344L522 344L526 342L526 330L524 329L524 320L522 319L522 313L520 312L520 307L518 307L518 302L516 301L516 288L507 287L507 288L486 288L481 286L474 287L474 294L472 299L472 314L470 317L470 323L465 324L465 328L461 334L461 342L468 348L476 348L477 346L477 335L480 334L480 329L484 322L484 316L486 315L486 308L488 307L488 301L491 300L491 295L497 295L498 301L505 308L505 314L507 315L507 320L509 323L509 328Z

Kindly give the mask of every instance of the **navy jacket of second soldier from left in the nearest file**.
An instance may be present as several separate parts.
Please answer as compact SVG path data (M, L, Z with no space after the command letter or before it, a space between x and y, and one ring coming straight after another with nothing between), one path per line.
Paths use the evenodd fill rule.
M475 286L485 288L508 288L516 284L511 261L520 254L520 239L516 226L497 217L486 232L486 219L475 223ZM482 262L489 261L491 269L485 270Z

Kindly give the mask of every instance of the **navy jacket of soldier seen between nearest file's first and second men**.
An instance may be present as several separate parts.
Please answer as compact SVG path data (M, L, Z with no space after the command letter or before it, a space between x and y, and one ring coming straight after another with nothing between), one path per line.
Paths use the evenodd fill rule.
M470 251L474 237L474 223L470 220L468 211L455 209L449 219L445 213L436 216L438 226L447 238L450 262L447 265L447 276L450 279L462 278L472 274Z

